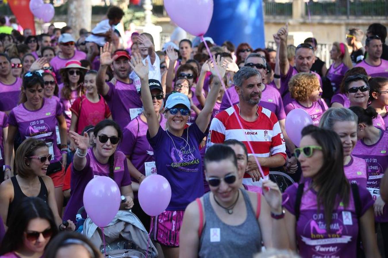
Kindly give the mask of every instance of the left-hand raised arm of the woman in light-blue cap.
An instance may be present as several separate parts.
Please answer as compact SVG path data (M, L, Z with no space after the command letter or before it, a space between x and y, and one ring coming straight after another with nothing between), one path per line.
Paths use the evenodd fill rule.
M141 94L144 108L144 115L147 119L148 132L150 137L154 137L159 130L158 116L154 110L154 104L152 103L151 91L148 85L148 61L145 60L145 65L142 62L142 57L139 53L133 53L130 66L132 70L139 76L141 82Z

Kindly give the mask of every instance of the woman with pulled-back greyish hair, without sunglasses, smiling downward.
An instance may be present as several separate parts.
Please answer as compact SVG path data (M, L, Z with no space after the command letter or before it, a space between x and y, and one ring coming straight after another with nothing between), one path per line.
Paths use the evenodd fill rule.
M357 143L357 115L348 108L329 108L320 119L319 127L333 130L340 137L343 148L343 170L350 183L366 188L368 167L352 151Z

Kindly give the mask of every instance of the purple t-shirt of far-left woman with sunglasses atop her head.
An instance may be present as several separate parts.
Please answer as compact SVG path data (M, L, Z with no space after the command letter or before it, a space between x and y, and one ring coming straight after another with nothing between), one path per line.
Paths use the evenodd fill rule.
M57 116L61 114L61 104L55 99L43 98L42 107L38 110L28 110L24 104L13 108L9 113L8 123L18 128L22 140L34 137L45 141L52 155L50 163L54 163L60 161L62 157L55 131Z

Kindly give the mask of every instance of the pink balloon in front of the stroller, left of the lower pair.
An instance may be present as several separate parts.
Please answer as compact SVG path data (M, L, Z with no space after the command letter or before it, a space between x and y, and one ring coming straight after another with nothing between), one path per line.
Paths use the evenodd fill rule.
M120 208L120 197L120 188L113 179L97 176L85 187L83 206L94 224L106 227Z

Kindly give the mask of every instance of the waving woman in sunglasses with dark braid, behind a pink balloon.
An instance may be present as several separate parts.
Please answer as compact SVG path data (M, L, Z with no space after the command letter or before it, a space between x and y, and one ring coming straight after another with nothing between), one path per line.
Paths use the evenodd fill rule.
M119 141L123 138L120 126L112 120L102 120L94 128L93 142L88 148L89 136L82 136L70 131L70 137L77 146L71 167L71 196L66 205L64 219L75 221L75 215L83 206L83 191L90 180L96 176L109 176L120 187L126 202L121 209L133 206L133 191L125 154L117 151ZM86 214L83 214L85 216Z

